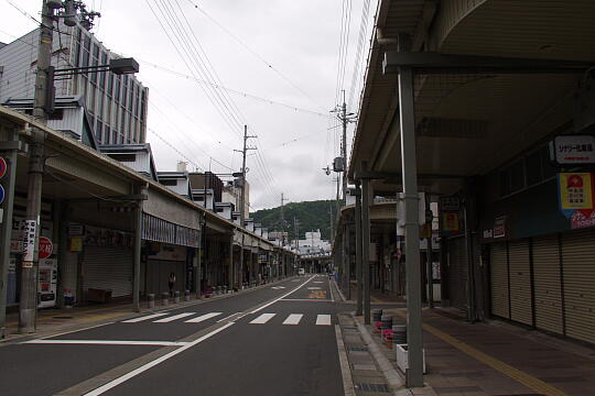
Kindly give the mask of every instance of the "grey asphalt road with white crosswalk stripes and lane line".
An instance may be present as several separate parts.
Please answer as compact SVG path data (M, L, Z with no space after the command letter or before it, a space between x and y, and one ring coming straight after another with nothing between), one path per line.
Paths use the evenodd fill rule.
M343 395L336 309L326 276L302 276L3 346L0 394Z

